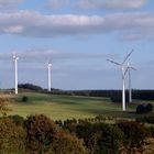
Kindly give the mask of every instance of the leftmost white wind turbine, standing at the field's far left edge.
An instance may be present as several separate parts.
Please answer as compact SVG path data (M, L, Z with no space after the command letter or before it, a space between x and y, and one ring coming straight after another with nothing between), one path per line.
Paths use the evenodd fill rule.
M15 95L18 95L18 59L19 57L16 56L15 53L13 53L13 61L14 61L14 81L15 81Z

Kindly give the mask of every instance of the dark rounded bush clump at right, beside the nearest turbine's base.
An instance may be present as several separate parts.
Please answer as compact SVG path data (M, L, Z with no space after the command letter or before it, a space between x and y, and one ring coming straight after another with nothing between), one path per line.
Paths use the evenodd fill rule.
M147 103L147 105L139 105L136 107L136 113L143 114L143 113L150 113L153 111L153 105Z

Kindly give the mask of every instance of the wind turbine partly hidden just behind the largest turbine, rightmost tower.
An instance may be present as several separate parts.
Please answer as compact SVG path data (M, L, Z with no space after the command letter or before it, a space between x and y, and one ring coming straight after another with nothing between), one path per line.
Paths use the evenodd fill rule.
M129 102L132 102L131 69L136 70L134 67L130 66L130 64L128 63L128 72L129 72Z

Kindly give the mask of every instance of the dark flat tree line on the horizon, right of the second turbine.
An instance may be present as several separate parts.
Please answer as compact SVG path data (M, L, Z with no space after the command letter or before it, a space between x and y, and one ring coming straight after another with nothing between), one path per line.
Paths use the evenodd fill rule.
M52 89L55 95L88 96L88 97L107 97L113 102L121 102L121 90L59 90ZM125 98L129 101L129 90L125 90ZM132 90L132 99L154 100L154 90Z

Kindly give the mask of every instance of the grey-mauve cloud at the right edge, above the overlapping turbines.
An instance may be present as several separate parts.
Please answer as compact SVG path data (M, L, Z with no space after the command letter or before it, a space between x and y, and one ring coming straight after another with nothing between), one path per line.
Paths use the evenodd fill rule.
M119 13L106 16L110 31L124 40L153 40L154 13Z

